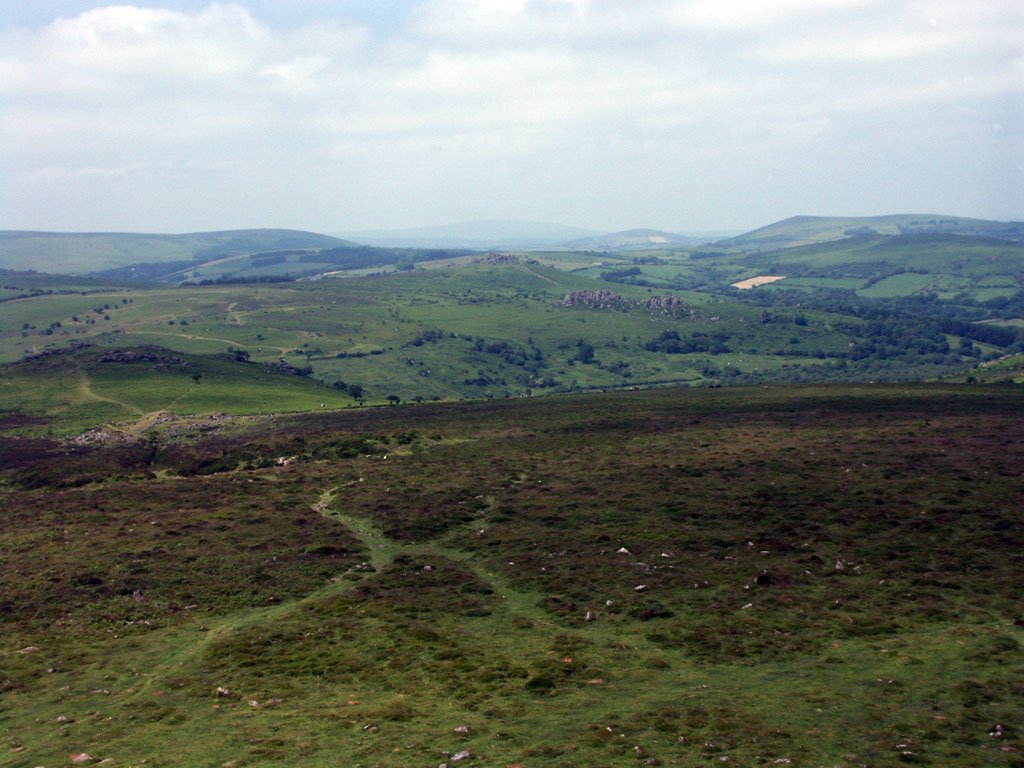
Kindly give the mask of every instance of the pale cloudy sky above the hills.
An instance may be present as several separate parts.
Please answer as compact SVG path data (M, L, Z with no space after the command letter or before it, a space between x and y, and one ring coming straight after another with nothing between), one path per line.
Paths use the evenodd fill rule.
M0 0L0 229L1024 219L1019 0Z

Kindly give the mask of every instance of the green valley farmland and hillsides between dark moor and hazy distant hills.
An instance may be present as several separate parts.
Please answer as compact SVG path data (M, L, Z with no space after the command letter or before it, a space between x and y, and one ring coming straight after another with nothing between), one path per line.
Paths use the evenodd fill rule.
M334 269L335 257L348 268ZM161 410L964 379L1024 351L1024 250L1010 242L864 236L771 254L608 254L600 266L580 259L339 247L204 262L197 268L243 260L286 270L232 271L206 285L5 272L0 408L38 416L56 407L67 418L47 423L67 434ZM287 272L295 265L330 267L324 274L333 276L296 280ZM771 274L786 279L730 287ZM103 362L108 352L138 347L187 358L201 378L160 365L132 366L128 376L125 366ZM62 361L34 362L54 355ZM227 396L249 391L243 382L267 370L305 382L276 377ZM63 386L86 380L96 386Z

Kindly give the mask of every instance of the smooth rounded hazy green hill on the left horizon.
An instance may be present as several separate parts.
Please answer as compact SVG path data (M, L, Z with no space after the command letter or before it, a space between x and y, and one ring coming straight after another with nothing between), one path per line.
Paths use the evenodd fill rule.
M80 274L134 264L209 261L260 251L354 245L297 229L229 229L188 234L0 231L0 268Z

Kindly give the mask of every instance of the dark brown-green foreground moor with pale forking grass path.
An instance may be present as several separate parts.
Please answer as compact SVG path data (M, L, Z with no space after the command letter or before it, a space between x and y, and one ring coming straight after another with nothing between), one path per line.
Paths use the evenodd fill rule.
M1019 766L1022 397L7 414L0 764Z

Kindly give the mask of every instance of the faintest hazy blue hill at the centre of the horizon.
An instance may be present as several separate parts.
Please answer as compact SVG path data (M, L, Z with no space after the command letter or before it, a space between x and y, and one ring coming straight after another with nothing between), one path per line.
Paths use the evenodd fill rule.
M344 232L342 237L371 246L486 251L550 248L596 234L599 232L593 229L542 221L489 220L411 229L369 229Z

